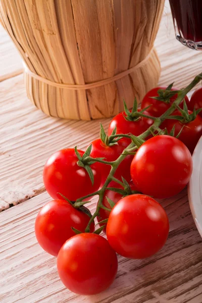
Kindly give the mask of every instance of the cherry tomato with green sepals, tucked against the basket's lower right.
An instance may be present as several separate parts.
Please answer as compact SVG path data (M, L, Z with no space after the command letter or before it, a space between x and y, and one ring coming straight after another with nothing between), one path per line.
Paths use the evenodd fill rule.
M149 115L154 116L154 117L160 117L163 115L173 104L173 102L177 98L177 93L172 95L172 91L178 91L179 89L176 87L171 87L168 89L171 85L168 87L165 86L159 86L155 87L151 90L149 90L145 96L142 99L141 103L141 109L144 109L148 106L150 106L146 111L149 113ZM165 94L164 97L160 97L161 93L159 94L158 91L162 92L162 95ZM165 90L164 92L162 90ZM171 93L171 97L169 97L169 94ZM159 97L161 100L155 99L154 97ZM189 104L189 99L187 96L185 96L185 102L188 106ZM183 102L181 102L180 107L183 108ZM134 134L135 135L135 134Z

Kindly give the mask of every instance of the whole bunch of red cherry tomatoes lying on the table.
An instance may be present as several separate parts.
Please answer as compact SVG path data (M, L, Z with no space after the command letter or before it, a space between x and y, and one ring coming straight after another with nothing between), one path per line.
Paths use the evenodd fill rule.
M153 124L152 117L160 117L170 108L177 95L166 99L169 89L158 95L159 89L166 88L154 88L143 98L138 110L142 116L135 117L126 110L114 117L108 136L103 130L103 138L91 143L90 155L67 148L57 151L44 166L44 185L54 200L39 211L35 234L41 247L57 256L59 276L75 293L95 294L109 287L117 274L116 252L126 258L143 259L156 254L167 240L168 217L154 198L175 195L189 181L191 153L202 135L202 118L195 113L202 106L202 89L193 94L190 102L186 96L172 119L166 119L160 126L174 135L175 125L178 139L150 134L135 155L128 154L118 166L114 174L118 182L114 179L109 184L111 189L105 190L97 215L107 239L96 232L93 221L90 232L85 232L91 214L84 206L74 206L77 199L96 194L111 169L105 163L85 163L86 157L116 161L131 139L126 136L118 140L114 129L117 134L138 136ZM170 87L170 90L177 89Z

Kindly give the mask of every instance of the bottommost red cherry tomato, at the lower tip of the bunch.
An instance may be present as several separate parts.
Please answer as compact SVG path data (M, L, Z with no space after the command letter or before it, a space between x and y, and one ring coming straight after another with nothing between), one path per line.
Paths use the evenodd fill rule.
M71 291L90 295L107 289L114 281L116 252L102 236L81 233L65 242L58 254L58 273Z

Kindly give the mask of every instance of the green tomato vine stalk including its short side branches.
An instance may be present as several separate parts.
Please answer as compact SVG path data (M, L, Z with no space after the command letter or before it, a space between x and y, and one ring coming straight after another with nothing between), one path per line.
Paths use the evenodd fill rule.
M155 118L155 117L149 117L151 119L154 120L154 123L146 130L144 131L141 135L139 135L138 139L144 139L146 138L147 136L150 135L150 133L154 132L156 129L159 128L159 126L162 124L162 122L168 118L175 110L176 110L176 107L182 102L182 100L184 99L184 97L186 96L186 94L202 79L202 73L200 73L199 75L197 75L194 80L187 86L185 87L184 89L182 90L179 90L178 91L178 96L176 98L176 100L174 101L174 103L171 105L171 107L163 114L161 115L160 117L158 118ZM143 114L140 113L140 116L142 116ZM146 116L146 115L143 115L143 116ZM147 116L146 116L147 117ZM147 117L148 118L148 117ZM113 134L113 137L129 137L132 139L132 137L130 135L122 135L122 134ZM133 136L134 138L134 136ZM100 162L100 163L105 163L105 164L109 164L111 165L111 170L110 170L110 173L108 175L108 178L106 180L106 182L104 183L103 187L100 188L98 191L90 194L90 195L87 195L87 196L84 196L80 199L78 199L76 201L76 203L74 204L74 207L79 207L80 205L83 205L84 203L82 202L82 200L84 198L87 198L87 197L90 197L92 195L99 195L99 199L98 199L98 203L97 203L97 207L96 207L96 210L94 212L94 214L92 215L92 217L90 218L89 222L88 222L88 225L85 229L85 232L90 232L90 224L93 222L93 220L96 218L96 216L99 214L99 210L100 208L103 208L103 197L104 197L104 193L109 185L109 183L114 180L117 182L117 180L115 180L116 178L114 178L114 174L118 168L118 166L120 165L120 163L127 157L128 153L131 152L131 150L134 150L136 149L137 146L135 146L135 143L134 142L131 142L123 151L123 153L119 156L119 158L114 161L114 162L107 162L107 161L104 161L104 160L97 160L97 162ZM90 157L89 157L90 158ZM92 159L89 159L91 161L94 161L96 162L96 159L92 158ZM118 183L122 183L122 182L118 182Z

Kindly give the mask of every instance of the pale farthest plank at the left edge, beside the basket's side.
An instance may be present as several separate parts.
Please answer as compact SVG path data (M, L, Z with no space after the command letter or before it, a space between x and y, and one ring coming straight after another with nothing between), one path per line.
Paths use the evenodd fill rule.
M22 74L22 71L20 55L0 23L0 82Z

